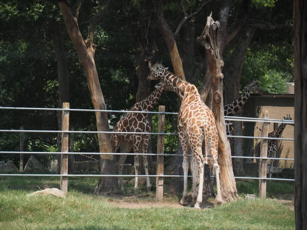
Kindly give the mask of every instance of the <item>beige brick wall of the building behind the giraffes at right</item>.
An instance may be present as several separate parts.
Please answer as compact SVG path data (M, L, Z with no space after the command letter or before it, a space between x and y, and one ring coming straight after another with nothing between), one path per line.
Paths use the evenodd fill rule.
M286 117L287 114L290 114L292 120L294 120L294 107L293 106L292 107L269 106L269 105L261 106L259 118L264 117L265 110L269 111L269 116L271 119L283 120L283 117ZM254 130L254 136L261 136L261 131L259 130L259 128L262 129L262 124L263 123L260 123L260 122L256 123L255 130ZM280 125L280 123L278 125ZM270 123L269 133L274 130L273 127L274 127L274 124ZM294 127L291 125L287 125L286 128L283 130L281 137L293 138L294 137ZM256 147L258 142L260 142L260 139L254 140L254 147ZM287 140L278 141L278 146L280 145L281 145L280 156L277 155L276 157L294 158L294 141L287 141ZM277 154L278 153L279 151L277 150ZM278 167L294 167L294 161L293 160L278 160L277 166Z

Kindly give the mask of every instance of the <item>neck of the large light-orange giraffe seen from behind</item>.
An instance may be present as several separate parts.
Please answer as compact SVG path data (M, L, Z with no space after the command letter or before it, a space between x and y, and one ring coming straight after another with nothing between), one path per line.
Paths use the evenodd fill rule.
M187 97L187 95L193 94L193 91L198 91L197 88L186 81L181 80L180 78L172 75L167 70L162 70L163 72L160 73L161 80L164 81L173 91L178 94L181 101ZM187 93L187 94L185 94ZM198 94L195 94L195 96Z

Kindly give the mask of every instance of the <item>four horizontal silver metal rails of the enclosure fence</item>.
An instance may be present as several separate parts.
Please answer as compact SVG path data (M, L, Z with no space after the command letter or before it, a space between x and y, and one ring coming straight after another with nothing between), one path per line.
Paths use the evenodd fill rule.
M0 109L10 109L10 110L56 110L56 111L87 111L87 112L121 112L121 113L151 113L151 114L171 114L177 115L177 112L155 112L155 111L124 111L124 110L95 110L95 109L71 109L71 108L31 108L31 107L0 107ZM260 118L244 118L244 117L225 117L225 120L228 121L243 121L243 122L272 122L272 123L286 123L294 124L293 120L277 120L277 119L260 119ZM7 130L0 129L0 132L35 132L35 133L127 133L127 134L151 134L151 135L178 135L178 133L165 133L165 132L113 132L113 131L68 131L68 130ZM264 136L228 136L230 138L246 138L246 139L261 139L261 140L290 140L294 141L291 138L273 138L273 137L264 137ZM160 154L160 153L95 153L95 152L27 152L27 151L0 151L0 154L65 154L65 155L76 155L76 154L91 154L91 155L150 155L150 156L178 156L178 154ZM272 157L254 157L254 156L231 156L232 158L250 158L250 159L284 159L284 160L294 160L294 158L272 158ZM0 176L65 176L65 177L141 177L145 175L97 175L97 174L0 174ZM183 177L183 175L149 175L150 177ZM267 178L266 176L262 177L235 177L236 179L260 179L260 180L280 180L280 181L294 181L294 179L284 179L284 178Z

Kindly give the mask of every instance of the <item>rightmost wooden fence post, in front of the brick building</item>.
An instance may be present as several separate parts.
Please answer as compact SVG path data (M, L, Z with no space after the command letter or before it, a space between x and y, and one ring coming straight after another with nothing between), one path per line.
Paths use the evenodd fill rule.
M269 111L265 111L265 119L269 118ZM261 137L268 137L269 134L269 122L264 122L261 130ZM260 148L260 157L268 156L268 139L261 140L261 148ZM259 177L267 178L267 159L259 160ZM267 197L267 180L260 179L259 180L259 198Z

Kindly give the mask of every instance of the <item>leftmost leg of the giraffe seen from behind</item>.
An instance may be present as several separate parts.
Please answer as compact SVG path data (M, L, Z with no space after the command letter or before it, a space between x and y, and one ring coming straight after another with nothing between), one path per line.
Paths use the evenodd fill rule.
M185 140L184 136L179 133L179 140L181 142L182 151L183 151L183 195L180 200L181 205L188 204L188 170L189 170L189 162L188 162L188 142Z

